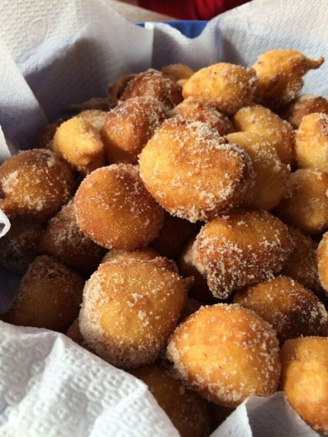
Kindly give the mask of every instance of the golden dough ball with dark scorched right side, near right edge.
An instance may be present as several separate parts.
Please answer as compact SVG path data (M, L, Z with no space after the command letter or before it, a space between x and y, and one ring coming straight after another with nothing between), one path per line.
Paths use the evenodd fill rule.
M328 314L323 303L286 276L238 290L234 303L267 320L281 343L301 336L328 335Z

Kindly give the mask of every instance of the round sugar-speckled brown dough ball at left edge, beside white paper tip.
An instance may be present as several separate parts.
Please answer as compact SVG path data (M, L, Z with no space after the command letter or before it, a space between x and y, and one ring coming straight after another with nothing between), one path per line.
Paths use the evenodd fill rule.
M49 150L20 152L0 167L0 209L10 218L46 221L73 190L71 170Z

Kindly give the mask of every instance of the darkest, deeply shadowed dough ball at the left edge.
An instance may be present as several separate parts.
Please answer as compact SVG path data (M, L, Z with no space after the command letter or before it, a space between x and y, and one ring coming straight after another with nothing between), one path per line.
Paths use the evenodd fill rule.
M38 255L37 247L43 232L40 224L12 221L9 232L1 238L0 265L10 272L25 273Z

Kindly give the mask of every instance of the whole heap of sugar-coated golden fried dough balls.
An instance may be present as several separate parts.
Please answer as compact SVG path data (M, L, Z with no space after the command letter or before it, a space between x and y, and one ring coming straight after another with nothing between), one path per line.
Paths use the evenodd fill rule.
M127 72L0 166L3 321L144 381L182 437L284 390L328 434L328 99L296 50Z

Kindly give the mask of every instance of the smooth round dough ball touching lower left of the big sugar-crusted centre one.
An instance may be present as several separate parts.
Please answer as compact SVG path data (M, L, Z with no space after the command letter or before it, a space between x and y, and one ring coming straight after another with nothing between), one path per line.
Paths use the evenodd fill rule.
M75 215L81 231L96 243L132 251L157 236L164 211L145 189L137 167L112 164L80 184Z

